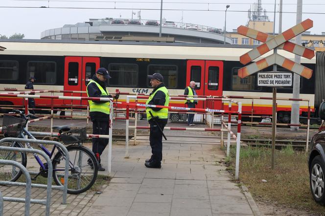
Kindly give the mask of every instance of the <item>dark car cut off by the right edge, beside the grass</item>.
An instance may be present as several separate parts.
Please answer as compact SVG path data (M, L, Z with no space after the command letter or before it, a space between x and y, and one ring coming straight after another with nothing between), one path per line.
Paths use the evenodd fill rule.
M319 116L325 120L325 101L320 105ZM308 168L311 194L316 202L325 204L325 121L312 137L309 152Z

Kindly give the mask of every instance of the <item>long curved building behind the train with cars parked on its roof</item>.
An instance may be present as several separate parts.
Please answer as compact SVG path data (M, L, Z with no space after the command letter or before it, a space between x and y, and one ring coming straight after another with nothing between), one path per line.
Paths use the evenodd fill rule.
M61 28L48 29L41 39L54 40L115 40L115 41L161 41L160 23L156 20L90 19L89 22L66 24ZM224 43L221 29L183 22L163 20L162 42ZM226 43L232 39L226 37Z

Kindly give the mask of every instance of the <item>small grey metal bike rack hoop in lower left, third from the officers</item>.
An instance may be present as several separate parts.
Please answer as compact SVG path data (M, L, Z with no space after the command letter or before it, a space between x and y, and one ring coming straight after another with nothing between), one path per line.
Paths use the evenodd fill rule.
M6 147L6 148L11 148L13 149L13 151L17 151L16 149L17 148L13 148L13 147ZM20 148L22 149L22 148ZM1 148L1 150L7 150L5 149L5 147ZM48 157L47 157L48 158ZM30 209L30 195L31 195L31 184L32 184L32 180L30 179L30 175L27 171L27 169L20 163L18 163L17 161L13 161L13 160L0 160L0 164L3 164L3 165L12 165L12 166L15 166L15 167L18 167L22 172L23 174L26 176L26 183L25 183L25 186L26 186L26 194L25 194L25 198L15 198L15 197L2 197L1 195L1 216L2 216L2 212L3 212L3 200L4 201L11 201L11 202L24 202L25 203L25 216L29 216L29 209ZM5 182L5 181L3 181ZM46 206L47 207L47 206ZM49 207L49 205L48 205ZM48 215L49 215L49 211L48 211Z

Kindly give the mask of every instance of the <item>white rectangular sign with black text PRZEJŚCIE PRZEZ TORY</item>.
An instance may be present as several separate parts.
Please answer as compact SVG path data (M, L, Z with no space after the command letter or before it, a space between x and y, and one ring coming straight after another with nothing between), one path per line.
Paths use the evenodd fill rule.
M257 86L292 86L292 73L258 73Z

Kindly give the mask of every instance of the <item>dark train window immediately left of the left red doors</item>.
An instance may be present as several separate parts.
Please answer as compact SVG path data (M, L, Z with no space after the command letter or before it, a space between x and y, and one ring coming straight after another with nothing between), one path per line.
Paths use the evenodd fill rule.
M35 84L56 83L55 62L27 62L27 76L36 78Z

